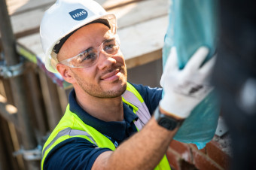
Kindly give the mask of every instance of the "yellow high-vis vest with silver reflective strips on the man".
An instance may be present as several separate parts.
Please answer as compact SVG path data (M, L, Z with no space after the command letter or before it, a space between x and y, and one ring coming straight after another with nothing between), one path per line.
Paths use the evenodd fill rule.
M126 92L123 93L122 99L127 105L133 107L133 112L139 117L138 120L134 121L134 124L139 131L151 118L151 114L149 113L142 96L139 94L136 88L133 87L133 85L127 83ZM92 126L85 124L77 116L77 114L72 113L72 111L69 110L68 105L66 108L66 113L44 144L41 159L41 169L44 168L44 160L53 147L66 139L77 137L85 138L93 144L96 144L97 147L107 147L111 150L115 150L115 146L110 139L105 137L105 135L94 129ZM163 156L163 159L154 169L171 169L166 156Z

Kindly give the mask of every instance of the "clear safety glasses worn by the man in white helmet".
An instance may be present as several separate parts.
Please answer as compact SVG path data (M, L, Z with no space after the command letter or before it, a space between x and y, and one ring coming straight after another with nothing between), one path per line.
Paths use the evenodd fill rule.
M118 35L102 42L99 47L90 47L84 52L79 53L77 56L73 56L70 59L65 59L59 63L68 65L72 68L86 68L96 64L99 59L99 52L105 53L108 56L114 56L120 49L120 41Z

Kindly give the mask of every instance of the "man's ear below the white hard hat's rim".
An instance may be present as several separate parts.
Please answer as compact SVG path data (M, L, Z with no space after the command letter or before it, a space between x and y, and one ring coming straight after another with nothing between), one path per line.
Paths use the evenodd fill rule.
M69 83L75 83L75 77L73 76L73 72L70 70L69 66L58 63L56 64L56 69L59 71L59 74L62 75L64 80Z

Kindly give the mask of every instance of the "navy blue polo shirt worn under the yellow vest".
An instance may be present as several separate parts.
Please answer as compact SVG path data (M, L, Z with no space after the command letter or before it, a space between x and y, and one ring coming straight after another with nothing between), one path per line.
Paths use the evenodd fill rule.
M132 85L138 90L152 115L160 102L162 89L133 83ZM138 117L133 113L133 108L125 103L123 103L124 120L118 122L105 122L92 117L76 102L75 90L69 94L69 107L70 111L77 114L84 123L93 126L108 137L116 147L137 132L133 120L137 120ZM44 169L91 169L97 156L108 150L110 149L98 148L84 138L69 138L50 150L44 159Z

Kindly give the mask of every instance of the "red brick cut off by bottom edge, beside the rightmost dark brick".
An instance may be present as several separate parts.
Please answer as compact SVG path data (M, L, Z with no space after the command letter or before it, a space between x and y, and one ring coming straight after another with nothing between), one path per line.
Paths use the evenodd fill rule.
M217 163L197 150L193 151L194 165L200 170L223 170Z

